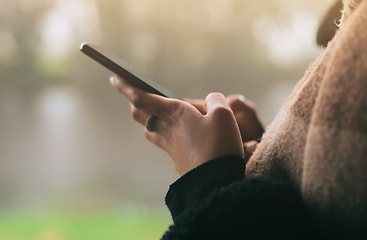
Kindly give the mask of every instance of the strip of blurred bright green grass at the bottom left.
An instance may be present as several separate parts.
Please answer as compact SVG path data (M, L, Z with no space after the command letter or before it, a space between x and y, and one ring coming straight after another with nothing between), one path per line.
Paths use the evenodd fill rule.
M0 240L160 239L168 212L152 208L70 212L2 213Z

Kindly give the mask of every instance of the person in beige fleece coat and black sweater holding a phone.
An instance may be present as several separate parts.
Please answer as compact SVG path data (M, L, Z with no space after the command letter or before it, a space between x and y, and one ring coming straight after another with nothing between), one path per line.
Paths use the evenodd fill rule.
M163 239L366 238L366 22L367 0L345 0L335 37L264 134L242 96L181 101L111 78L181 176Z

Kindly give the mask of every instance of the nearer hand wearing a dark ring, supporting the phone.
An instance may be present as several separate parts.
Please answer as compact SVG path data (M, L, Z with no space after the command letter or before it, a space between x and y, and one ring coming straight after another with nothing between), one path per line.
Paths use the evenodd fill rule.
M240 130L222 94L209 94L202 114L187 102L144 92L118 77L111 82L131 103L136 121L145 125L156 117L145 136L171 156L180 175L223 155L244 157Z

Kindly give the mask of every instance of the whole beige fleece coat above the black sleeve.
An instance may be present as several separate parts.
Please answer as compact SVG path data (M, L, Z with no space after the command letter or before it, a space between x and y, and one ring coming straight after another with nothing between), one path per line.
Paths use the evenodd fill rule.
M246 166L247 177L288 180L320 213L349 222L367 213L367 0L357 3L347 1L340 30Z

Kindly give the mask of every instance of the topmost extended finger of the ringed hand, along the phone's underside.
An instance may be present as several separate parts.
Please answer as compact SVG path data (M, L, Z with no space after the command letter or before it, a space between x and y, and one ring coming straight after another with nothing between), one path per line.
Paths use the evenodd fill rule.
M169 115L167 113L171 110L169 98L135 88L119 77L114 77L113 80L111 78L111 83L136 108L161 119L165 119Z

